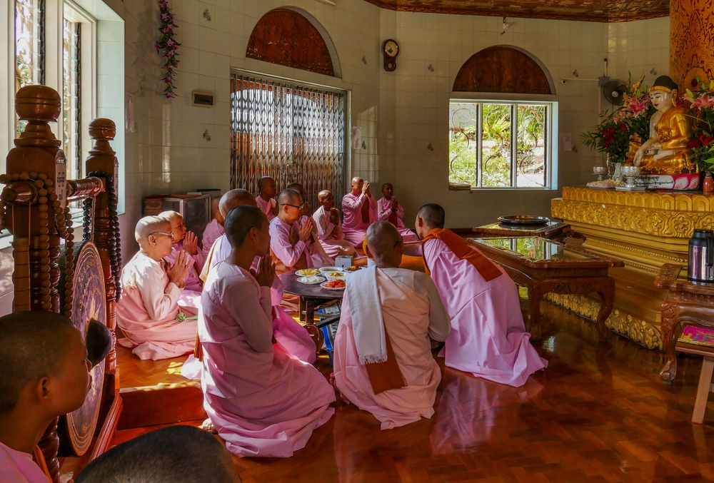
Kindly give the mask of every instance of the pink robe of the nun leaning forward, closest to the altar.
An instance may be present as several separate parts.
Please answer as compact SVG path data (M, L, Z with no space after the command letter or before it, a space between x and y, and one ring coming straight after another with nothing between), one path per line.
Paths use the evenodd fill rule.
M431 278L451 315L451 335L443 350L448 367L520 387L533 372L548 365L529 342L518 288L500 266L502 275L486 282L442 240L426 240L423 250Z

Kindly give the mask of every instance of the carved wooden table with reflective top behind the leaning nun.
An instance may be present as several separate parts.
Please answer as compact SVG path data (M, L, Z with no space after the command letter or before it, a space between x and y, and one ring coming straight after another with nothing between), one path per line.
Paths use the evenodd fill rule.
M540 330L540 301L547 293L598 293L600 306L598 324L600 335L607 337L605 326L615 299L615 281L608 269L623 267L620 260L565 247L540 237L466 238L484 255L503 266L518 285L528 288L530 330Z

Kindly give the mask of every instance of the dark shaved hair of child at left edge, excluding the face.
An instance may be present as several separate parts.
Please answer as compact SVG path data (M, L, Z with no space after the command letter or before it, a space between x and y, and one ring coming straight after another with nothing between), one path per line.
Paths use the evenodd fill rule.
M0 415L15 407L26 385L62 370L76 332L67 317L45 310L0 317Z

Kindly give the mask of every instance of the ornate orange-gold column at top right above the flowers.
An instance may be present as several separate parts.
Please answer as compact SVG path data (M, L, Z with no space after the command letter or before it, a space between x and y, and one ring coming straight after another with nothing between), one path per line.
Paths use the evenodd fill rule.
M714 0L670 0L670 77L680 93L714 78Z

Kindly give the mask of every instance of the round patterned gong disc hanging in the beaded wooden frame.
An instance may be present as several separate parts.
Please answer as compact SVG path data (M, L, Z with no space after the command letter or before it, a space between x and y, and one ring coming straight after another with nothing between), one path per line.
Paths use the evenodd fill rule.
M86 241L75 245L74 250L74 287L72 289L72 322L86 337L90 319L106 324L106 293L101 259L94 243ZM60 296L64 295L64 257L59 260L63 276L58 287ZM81 456L94 437L102 387L104 385L104 360L92 367L89 372L91 387L78 410L59 419L57 432L60 437L62 456Z

